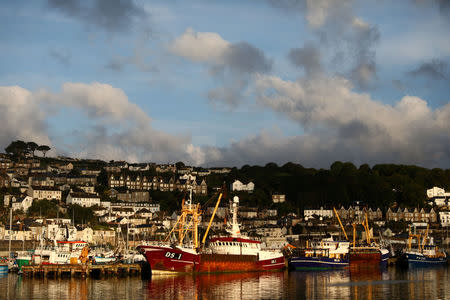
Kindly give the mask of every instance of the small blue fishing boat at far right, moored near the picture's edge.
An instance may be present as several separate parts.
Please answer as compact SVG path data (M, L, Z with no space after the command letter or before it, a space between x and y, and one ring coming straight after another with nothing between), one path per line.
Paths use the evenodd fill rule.
M409 234L408 248L402 256L402 264L407 267L432 267L432 266L445 266L447 265L447 254L439 249L432 241L428 240L428 229L424 235L421 234ZM412 241L416 238L417 246L412 247Z

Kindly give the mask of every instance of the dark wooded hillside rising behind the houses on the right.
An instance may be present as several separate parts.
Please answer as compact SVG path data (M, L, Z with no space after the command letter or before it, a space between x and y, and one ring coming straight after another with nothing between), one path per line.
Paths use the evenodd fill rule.
M285 212L298 212L306 207L349 206L363 201L370 207L387 208L393 204L423 207L426 190L439 186L450 189L450 170L426 169L418 166L379 164L357 168L350 162L335 162L329 170L304 168L295 163L277 166L245 165L233 168L227 175L212 175L207 183L235 179L255 184L254 194L239 193L243 205L267 207L273 193L286 195L286 204L278 205Z

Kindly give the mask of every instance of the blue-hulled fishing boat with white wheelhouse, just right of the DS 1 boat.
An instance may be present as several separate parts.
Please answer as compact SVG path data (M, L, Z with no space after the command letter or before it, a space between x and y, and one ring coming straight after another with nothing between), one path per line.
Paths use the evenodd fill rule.
M291 270L336 269L349 266L350 242L335 241L332 237L307 242L305 249L294 249L288 259Z

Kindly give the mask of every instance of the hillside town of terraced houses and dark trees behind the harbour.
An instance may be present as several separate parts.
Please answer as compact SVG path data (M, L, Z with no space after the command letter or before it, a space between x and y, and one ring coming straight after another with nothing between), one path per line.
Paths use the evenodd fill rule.
M342 229L351 234L355 222L354 232L363 239L360 224L365 218L374 239L399 247L411 230L427 229L443 247L450 242L449 170L396 165L357 169L341 162L330 170L293 163L238 169L104 162L47 157L48 146L16 142L0 154L3 252L33 249L42 239L111 248L123 240L130 247L163 240L191 194L203 206L201 228L215 213L214 233L228 226L231 199L238 196L241 230L269 249L302 245L312 237L342 237ZM224 199L214 210L219 191Z

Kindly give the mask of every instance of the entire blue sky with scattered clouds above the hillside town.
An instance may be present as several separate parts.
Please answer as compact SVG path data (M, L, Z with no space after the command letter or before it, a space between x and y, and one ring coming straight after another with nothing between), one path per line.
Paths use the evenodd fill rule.
M0 149L450 168L448 0L0 2Z

